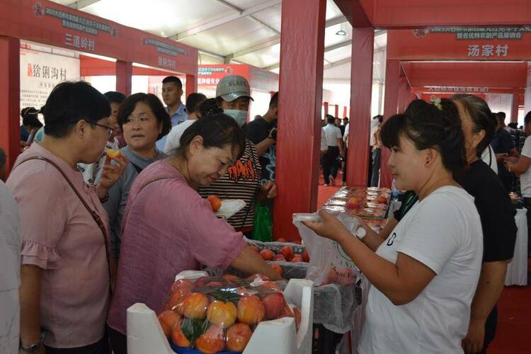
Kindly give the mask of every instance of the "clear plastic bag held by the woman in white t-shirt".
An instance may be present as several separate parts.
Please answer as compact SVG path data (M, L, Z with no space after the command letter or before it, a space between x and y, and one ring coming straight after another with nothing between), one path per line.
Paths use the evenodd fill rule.
M358 220L346 214L336 217L353 234L358 229ZM349 285L359 278L360 270L350 257L335 241L317 235L302 224L303 221L319 220L319 214L294 214L293 224L299 229L299 234L309 252L310 261L306 278L315 285L330 283ZM353 237L355 237L353 235Z

